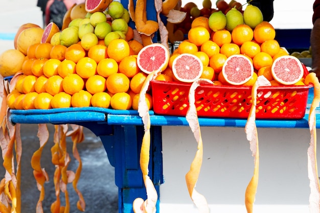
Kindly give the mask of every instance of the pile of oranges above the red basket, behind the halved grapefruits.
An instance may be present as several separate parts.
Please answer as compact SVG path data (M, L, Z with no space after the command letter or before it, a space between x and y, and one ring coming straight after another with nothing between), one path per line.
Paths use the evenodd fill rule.
M245 55L252 61L255 74L247 86L252 86L257 77L265 76L272 85L279 85L271 75L271 65L279 56L288 55L275 40L276 31L273 26L263 21L255 29L243 24L232 31L226 29L216 32L209 28L209 19L198 17L192 22L188 40L182 41L169 60L169 68L178 54L190 53L203 62L203 75L215 84L226 84L221 69L226 59L235 54ZM172 77L170 70L166 75ZM299 82L299 85L303 82Z

